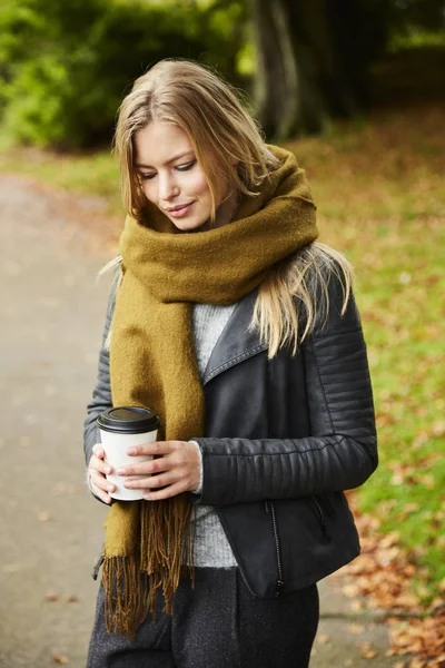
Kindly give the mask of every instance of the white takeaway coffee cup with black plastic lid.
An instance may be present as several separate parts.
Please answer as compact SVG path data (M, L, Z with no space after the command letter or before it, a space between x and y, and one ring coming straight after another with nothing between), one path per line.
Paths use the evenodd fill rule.
M113 472L107 475L107 480L113 482L116 491L110 497L119 501L137 501L142 498L145 490L127 490L125 480L146 478L145 475L118 475L119 466L147 462L151 455L130 456L127 449L131 445L140 445L156 441L159 429L159 418L150 409L142 406L120 406L108 409L98 419L100 436L105 451L105 461L112 466Z

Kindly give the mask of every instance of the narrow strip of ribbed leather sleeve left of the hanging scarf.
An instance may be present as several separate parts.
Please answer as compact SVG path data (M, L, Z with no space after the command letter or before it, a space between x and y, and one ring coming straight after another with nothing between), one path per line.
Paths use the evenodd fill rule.
M113 283L112 283L113 284ZM96 425L96 420L106 409L112 406L111 384L110 384L110 356L105 347L108 333L110 331L111 318L115 311L115 289L110 289L108 297L107 315L102 334L102 345L99 352L99 364L96 385L92 391L91 400L87 405L87 418L83 424L83 452L85 461L88 463L91 458L92 446L100 443L100 431Z

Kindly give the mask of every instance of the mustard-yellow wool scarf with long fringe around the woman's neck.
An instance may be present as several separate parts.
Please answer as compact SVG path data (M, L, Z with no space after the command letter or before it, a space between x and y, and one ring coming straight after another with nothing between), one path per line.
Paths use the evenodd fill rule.
M268 148L279 166L257 197L245 198L230 224L175 234L151 204L144 223L126 220L110 344L112 402L154 409L161 420L158 440L205 433L191 303L238 302L274 264L317 237L305 173L293 154ZM147 613L155 615L159 587L171 612L184 564L194 572L190 511L188 493L110 508L102 570L108 631L134 637Z

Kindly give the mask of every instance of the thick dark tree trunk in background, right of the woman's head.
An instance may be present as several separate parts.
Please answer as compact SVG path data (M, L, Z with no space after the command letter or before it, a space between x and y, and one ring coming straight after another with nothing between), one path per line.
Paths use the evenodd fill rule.
M256 106L267 137L319 132L367 104L362 0L251 0Z

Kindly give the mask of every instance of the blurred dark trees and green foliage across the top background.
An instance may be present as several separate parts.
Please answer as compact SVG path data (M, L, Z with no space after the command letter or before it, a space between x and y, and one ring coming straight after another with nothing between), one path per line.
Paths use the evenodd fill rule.
M186 57L246 88L269 139L320 132L403 96L421 51L417 94L437 94L444 16L443 0L0 0L0 120L21 143L107 145L131 81Z

